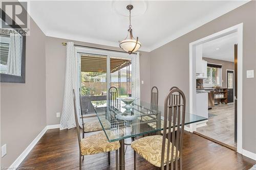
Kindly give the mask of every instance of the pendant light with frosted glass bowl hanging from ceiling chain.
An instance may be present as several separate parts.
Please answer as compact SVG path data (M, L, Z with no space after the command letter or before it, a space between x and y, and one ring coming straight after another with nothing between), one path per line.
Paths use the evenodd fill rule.
M124 40L121 42L119 41L119 46L122 48L125 52L132 54L139 50L141 47L141 43L138 41L138 37L135 39L133 37L133 30L132 30L132 25L131 25L131 10L133 9L132 5L127 5L126 7L127 10L130 12L130 25L128 29L128 34Z

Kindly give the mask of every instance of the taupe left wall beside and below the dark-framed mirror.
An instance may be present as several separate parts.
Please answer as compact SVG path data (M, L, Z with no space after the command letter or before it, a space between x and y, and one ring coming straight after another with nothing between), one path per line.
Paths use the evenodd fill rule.
M26 83L1 83L1 146L9 167L46 127L46 36L30 21L26 39Z

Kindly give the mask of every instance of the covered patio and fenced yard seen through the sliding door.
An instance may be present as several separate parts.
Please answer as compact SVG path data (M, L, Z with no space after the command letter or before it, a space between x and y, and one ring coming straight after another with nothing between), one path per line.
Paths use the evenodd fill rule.
M81 72L102 73L99 76L92 77L91 81L81 82L81 107L82 114L95 114L95 109L104 110L107 98L108 82L106 81L106 57L95 55L81 56ZM110 59L110 87L117 87L118 96L128 96L131 94L131 60L121 58ZM123 69L126 68L126 69ZM86 89L86 92L84 92ZM93 101L93 102L92 102ZM96 107L93 103L102 104ZM96 105L96 104L95 104Z

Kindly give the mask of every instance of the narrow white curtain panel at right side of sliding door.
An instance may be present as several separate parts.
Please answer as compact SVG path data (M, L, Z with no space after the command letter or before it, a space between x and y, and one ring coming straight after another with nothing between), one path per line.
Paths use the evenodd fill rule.
M140 98L140 54L132 56L132 96Z

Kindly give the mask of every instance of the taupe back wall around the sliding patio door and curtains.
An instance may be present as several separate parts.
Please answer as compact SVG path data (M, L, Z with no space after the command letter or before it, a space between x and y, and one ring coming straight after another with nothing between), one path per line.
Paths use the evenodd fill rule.
M66 46L61 42L73 40L46 37L46 109L47 125L59 124L60 117L56 117L56 112L62 111L63 93L65 85L66 70ZM86 42L73 41L75 44L92 47L108 48L119 50L119 47L104 46ZM140 53L140 80L141 100L150 101L150 56L147 52Z

